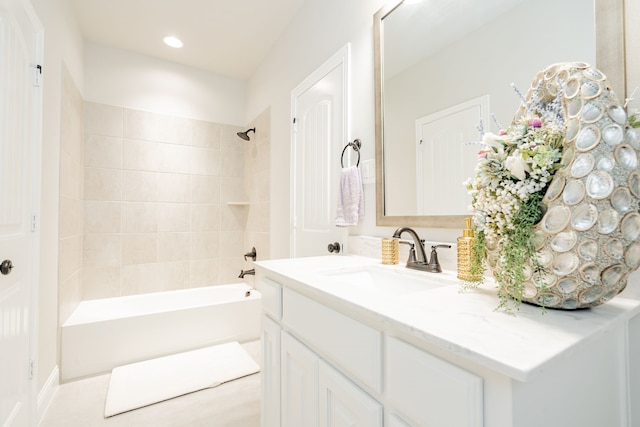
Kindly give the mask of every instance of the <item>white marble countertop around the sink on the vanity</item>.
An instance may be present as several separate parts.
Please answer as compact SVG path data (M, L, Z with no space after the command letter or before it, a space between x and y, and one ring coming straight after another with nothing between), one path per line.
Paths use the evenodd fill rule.
M519 381L531 380L554 360L580 351L584 343L640 313L640 301L616 297L601 306L575 311L543 311L522 304L515 315L509 315L495 311L498 298L495 283L489 280L477 289L460 292L455 272L409 271L402 265L383 266L375 258L353 255L260 261L255 265L259 275L276 281L293 280L296 290L311 291L320 303L347 304L392 328ZM332 280L333 272L370 266L413 279L424 275L426 289L392 296L369 294L351 291L344 283L336 286Z

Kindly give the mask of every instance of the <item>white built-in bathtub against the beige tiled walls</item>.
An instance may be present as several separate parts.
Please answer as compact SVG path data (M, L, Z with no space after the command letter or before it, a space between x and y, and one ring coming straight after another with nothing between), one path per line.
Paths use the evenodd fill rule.
M260 336L260 292L240 283L82 301L62 325L62 381Z

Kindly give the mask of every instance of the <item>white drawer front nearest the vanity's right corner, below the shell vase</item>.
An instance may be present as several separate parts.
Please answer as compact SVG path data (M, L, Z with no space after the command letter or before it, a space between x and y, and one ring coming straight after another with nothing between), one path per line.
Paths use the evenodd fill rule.
M417 425L483 425L481 377L393 337L385 360L388 399Z

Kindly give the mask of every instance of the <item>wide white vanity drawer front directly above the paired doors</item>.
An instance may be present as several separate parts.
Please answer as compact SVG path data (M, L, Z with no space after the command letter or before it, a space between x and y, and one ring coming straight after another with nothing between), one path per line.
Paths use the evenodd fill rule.
M282 320L337 366L382 390L382 334L290 289L282 294Z

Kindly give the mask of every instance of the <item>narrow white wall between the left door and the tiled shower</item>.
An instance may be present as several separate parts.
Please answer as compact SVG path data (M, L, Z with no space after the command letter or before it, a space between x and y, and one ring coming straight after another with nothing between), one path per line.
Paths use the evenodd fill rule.
M38 289L38 389L57 366L58 195L63 64L78 87L83 81L82 37L68 0L31 0L44 26L42 205Z

